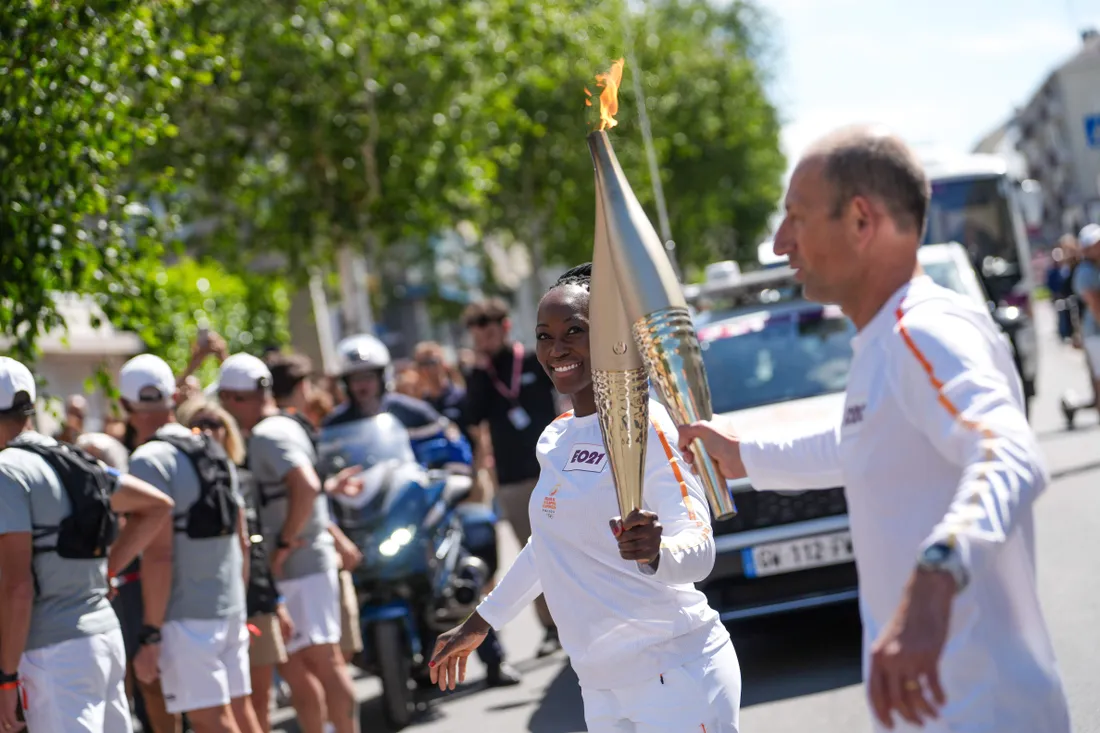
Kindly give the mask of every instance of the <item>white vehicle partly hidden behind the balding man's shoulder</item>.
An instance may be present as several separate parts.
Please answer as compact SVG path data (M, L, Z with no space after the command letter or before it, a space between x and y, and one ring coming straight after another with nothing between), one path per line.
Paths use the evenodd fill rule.
M917 250L917 259L924 272L936 284L960 293L972 299L978 307L989 310L1012 349L1030 413L1038 373L1038 340L1031 317L1016 306L999 307L993 303L961 244L924 244Z

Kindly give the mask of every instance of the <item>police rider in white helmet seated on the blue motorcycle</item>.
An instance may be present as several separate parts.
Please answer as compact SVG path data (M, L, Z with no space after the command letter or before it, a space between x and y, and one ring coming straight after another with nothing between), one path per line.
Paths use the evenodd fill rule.
M346 400L324 420L322 429L389 413L408 431L420 464L471 472L470 444L459 428L427 402L393 391L393 359L380 339L369 333L350 336L337 344L337 359ZM446 440L442 461L436 452L440 439ZM477 648L477 655L485 665L490 687L520 682L519 672L505 661L504 648L494 632Z

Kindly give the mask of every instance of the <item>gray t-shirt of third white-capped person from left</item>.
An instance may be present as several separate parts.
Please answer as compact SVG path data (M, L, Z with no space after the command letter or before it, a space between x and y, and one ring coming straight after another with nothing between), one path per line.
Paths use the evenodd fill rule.
M286 523L286 474L299 466L315 466L316 462L312 441L293 418L275 415L252 428L249 468L260 492L260 518L264 525L268 556L275 553L276 540ZM278 497L265 500L265 494L277 494ZM298 537L305 540L305 545L287 558L283 566L283 579L304 578L336 569L336 549L329 534L329 505L323 492L318 492L314 512Z

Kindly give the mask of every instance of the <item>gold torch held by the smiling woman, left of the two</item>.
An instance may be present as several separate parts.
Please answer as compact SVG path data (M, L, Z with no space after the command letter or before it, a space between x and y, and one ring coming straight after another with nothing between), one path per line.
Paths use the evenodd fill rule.
M625 517L641 508L649 437L649 376L623 307L600 199L596 199L588 318L596 414L612 464L619 516Z

